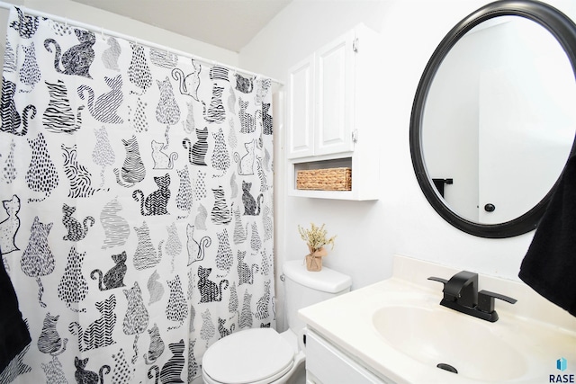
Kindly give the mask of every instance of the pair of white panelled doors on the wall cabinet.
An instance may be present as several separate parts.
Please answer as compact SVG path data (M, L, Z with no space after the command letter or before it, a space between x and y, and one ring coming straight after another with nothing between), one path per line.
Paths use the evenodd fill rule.
M355 39L349 31L291 70L289 158L354 149Z

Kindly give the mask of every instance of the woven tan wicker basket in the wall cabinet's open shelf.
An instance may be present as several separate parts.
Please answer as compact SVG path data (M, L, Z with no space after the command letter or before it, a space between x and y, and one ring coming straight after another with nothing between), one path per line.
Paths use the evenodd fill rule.
M352 169L307 169L296 174L296 189L315 191L352 191Z

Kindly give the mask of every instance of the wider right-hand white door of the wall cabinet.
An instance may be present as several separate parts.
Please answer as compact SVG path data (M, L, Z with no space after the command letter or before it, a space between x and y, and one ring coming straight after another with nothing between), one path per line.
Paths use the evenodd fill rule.
M317 52L314 155L354 149L354 40L350 31Z

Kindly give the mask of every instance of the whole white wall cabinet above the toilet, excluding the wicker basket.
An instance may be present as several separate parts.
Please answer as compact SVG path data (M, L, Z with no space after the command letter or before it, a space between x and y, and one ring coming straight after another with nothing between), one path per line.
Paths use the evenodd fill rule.
M378 199L382 51L378 34L358 25L290 69L286 129L289 194ZM296 189L298 170L335 166L352 168L352 191Z

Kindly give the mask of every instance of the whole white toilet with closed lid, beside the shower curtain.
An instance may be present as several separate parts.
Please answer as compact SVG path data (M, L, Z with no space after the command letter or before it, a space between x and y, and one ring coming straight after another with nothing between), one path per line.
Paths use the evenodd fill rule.
M302 371L305 324L298 310L350 291L352 279L327 267L310 272L302 260L285 262L283 272L289 329L279 334L272 328L250 328L212 344L202 357L204 383L279 384Z

